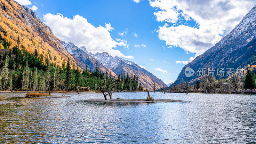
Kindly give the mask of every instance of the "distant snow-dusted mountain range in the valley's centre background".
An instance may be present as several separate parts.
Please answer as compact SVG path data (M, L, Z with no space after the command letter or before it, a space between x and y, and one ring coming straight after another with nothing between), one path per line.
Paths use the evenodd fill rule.
M98 65L100 68L107 69L116 74L121 74L121 71L123 71L125 74L136 75L143 88L148 88L149 90L153 90L154 83L156 89L163 87L164 82L161 79L132 61L124 60L117 56L113 57L108 52L92 54L84 46L78 48L71 42L66 43L62 41L62 43L71 55L81 60L84 64L90 64L92 68ZM164 86L166 87L167 85L164 84Z

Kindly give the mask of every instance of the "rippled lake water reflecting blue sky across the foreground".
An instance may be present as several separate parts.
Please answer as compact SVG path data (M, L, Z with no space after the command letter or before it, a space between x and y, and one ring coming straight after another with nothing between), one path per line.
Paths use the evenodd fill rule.
M256 143L256 95L150 95L191 102L82 101L103 98L95 93L35 99L4 95L22 102L0 105L0 143ZM112 97L145 99L147 93Z

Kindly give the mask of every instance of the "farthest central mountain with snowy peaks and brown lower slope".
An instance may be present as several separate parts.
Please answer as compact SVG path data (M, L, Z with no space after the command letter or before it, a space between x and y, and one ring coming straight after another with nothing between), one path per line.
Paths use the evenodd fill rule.
M156 89L163 87L164 82L161 79L157 78L152 73L141 68L132 61L124 60L117 56L113 57L108 52L92 54L92 57L99 60L104 66L110 68L116 74L121 73L121 71L129 75L135 74L144 88L153 90L154 83L156 85ZM164 86L166 87L167 85L164 84Z

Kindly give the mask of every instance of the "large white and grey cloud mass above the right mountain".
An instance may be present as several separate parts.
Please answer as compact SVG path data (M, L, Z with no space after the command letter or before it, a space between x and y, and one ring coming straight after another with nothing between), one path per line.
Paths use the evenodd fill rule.
M158 37L166 45L202 54L229 33L255 5L255 0L153 0L156 20L175 23L159 26ZM194 20L196 26L176 25ZM182 22L184 23L184 22Z

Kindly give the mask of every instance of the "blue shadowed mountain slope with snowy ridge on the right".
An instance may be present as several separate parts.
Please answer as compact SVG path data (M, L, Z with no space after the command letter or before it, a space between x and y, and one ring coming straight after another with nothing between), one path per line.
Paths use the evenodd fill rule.
M176 83L180 83L181 77L185 82L191 80L195 82L196 78L198 78L198 68L207 69L207 64L209 64L211 70L212 68L215 70L215 75L218 68L225 68L225 71L227 68L234 68L236 71L236 68L240 69L248 64L255 64L255 55L253 54L255 51L255 38L256 5L227 36L183 67ZM193 76L185 76L187 67L195 71ZM225 74L223 78L228 78L228 76Z

